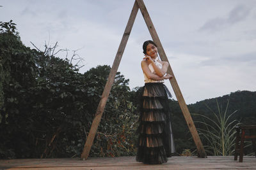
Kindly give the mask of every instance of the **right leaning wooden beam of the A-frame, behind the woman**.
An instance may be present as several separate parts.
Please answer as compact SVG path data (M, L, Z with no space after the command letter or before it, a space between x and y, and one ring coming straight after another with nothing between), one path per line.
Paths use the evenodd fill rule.
M164 48L161 44L161 41L160 41L160 39L157 35L156 29L155 29L155 27L153 25L153 22L152 22L149 14L148 14L147 8L146 8L145 4L143 3L143 0L136 0L136 2L138 3L141 14L143 15L143 18L144 18L144 20L147 24L148 31L150 32L150 35L152 36L153 41L157 45L157 49L158 49L159 55L161 57L161 60L167 61L169 63L169 61L166 57L166 54L164 52ZM194 124L194 122L191 118L191 115L189 113L188 106L186 105L186 103L184 101L184 98L183 98L182 93L180 91L177 80L176 80L176 78L173 74L172 67L170 66L170 63L169 63L167 73L171 74L173 76L173 78L170 79L170 83L172 84L173 91L175 93L175 96L177 97L177 100L179 102L179 105L180 105L180 108L181 108L182 113L184 115L184 118L186 119L186 122L188 124L189 131L191 132L191 135L192 135L192 137L195 141L195 145L196 145L196 148L198 150L198 153L199 153L200 157L206 157L204 146L202 145L202 142L199 138L198 132L196 131L195 124Z

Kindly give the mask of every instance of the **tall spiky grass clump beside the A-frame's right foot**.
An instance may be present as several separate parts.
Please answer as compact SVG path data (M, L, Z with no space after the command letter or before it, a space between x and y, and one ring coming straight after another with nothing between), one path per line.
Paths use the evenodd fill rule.
M234 145L236 139L236 125L239 121L232 120L232 116L237 112L228 113L228 104L223 111L220 108L218 100L216 99L216 105L218 113L215 113L207 104L205 106L211 111L211 117L193 113L195 117L201 120L196 120L195 124L198 124L200 128L197 128L199 135L203 139L205 152L214 156L227 156L234 153Z

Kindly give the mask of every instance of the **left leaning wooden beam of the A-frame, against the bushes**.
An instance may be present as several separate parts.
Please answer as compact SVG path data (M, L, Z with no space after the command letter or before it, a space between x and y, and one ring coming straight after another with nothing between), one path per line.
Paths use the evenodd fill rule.
M95 118L93 119L92 126L90 129L90 132L88 134L88 138L86 139L86 143L84 144L83 153L81 154L82 159L87 159L88 155L90 153L90 150L92 148L93 139L95 138L95 134L97 132L97 129L99 127L99 123L102 117L102 113L104 111L104 108L106 106L106 102L108 100L109 92L111 90L111 87L113 85L113 82L115 80L116 71L118 69L118 66L120 64L120 60L122 59L122 55L124 53L125 46L127 44L128 38L131 34L132 25L134 24L134 20L136 18L136 15L138 13L138 4L136 1L134 2L134 6L131 11L131 15L129 17L129 20L127 22L127 25L125 27L124 35L122 37L122 40L120 42L119 48L116 53L115 60L113 62L113 66L111 68L111 71L108 76L108 81L104 87L104 91L102 93L102 97L100 99L100 103L98 105L97 111L95 113Z

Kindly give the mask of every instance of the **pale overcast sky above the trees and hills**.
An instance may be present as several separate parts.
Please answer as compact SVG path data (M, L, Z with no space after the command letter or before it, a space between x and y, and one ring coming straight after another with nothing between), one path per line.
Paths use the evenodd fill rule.
M187 104L237 90L256 90L255 0L144 0ZM0 0L0 21L13 20L24 45L77 50L81 73L112 66L134 0ZM118 71L143 86L143 17L132 27ZM58 57L65 58L65 53ZM170 82L166 86L173 94ZM103 87L102 87L103 88ZM175 95L173 95L174 99Z

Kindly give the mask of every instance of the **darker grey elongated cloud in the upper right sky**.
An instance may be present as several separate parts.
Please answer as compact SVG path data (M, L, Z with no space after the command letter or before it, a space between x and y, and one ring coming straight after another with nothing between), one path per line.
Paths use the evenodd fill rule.
M250 13L251 8L238 5L228 13L227 17L217 17L205 22L199 31L219 31L243 21Z

